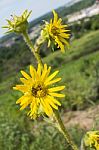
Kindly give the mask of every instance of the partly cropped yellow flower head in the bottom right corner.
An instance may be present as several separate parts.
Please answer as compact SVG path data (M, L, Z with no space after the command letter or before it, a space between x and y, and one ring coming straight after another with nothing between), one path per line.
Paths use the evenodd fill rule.
M99 131L89 131L84 137L85 146L99 150Z

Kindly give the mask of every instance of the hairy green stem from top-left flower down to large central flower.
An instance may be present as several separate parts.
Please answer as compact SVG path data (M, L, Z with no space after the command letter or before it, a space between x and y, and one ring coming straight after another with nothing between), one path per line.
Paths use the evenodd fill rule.
M26 44L27 44L28 47L30 48L31 52L34 54L34 56L35 56L37 62L40 63L41 66L43 67L43 62L42 62L42 60L41 60L41 57L40 57L40 55L38 54L38 52L35 51L34 46L33 46L33 43L31 42L28 33L27 33L27 32L24 32L22 35L23 35L23 38L24 38Z

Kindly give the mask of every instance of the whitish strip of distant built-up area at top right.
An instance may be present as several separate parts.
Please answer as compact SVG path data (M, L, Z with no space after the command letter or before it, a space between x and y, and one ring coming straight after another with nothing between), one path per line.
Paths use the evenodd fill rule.
M68 23L72 23L72 22L84 19L86 17L91 17L91 16L94 16L97 14L99 14L99 0L97 0L95 2L95 4L91 7L88 7L86 9L82 9L79 12L68 15L67 19L68 19Z

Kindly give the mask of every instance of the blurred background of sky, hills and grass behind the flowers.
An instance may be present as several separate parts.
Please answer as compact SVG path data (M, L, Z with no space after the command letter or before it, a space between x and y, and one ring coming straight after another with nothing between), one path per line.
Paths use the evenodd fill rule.
M0 1L0 150L71 150L64 137L43 122L30 120L19 111L16 100L20 92L12 90L19 82L21 69L29 71L35 58L21 36L5 35L1 26L11 14L32 10L29 36L34 43L43 22L49 21L52 10L62 17L71 30L71 47L62 54L41 47L43 62L59 69L66 97L60 113L74 141L88 130L99 130L99 0L1 0ZM61 142L60 142L61 141Z

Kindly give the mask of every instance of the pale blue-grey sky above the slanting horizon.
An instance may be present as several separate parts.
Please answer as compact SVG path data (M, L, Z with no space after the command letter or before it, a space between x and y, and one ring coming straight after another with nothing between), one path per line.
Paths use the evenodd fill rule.
M58 8L71 0L0 0L0 37L5 33L6 19L10 15L21 15L25 9L32 10L29 21L40 17L41 15Z

